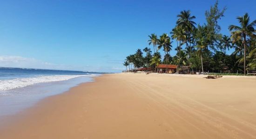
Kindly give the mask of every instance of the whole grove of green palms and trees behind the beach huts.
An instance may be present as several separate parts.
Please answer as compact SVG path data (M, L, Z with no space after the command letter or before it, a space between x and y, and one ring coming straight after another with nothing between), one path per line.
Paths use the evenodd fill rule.
M160 63L178 65L178 72L181 66L189 66L191 73L199 71L246 74L247 70L256 70L256 20L250 22L248 13L236 19L239 25L230 25L230 35L222 35L217 20L223 16L226 9L218 9L218 3L206 11L207 23L197 25L189 10L183 10L177 15L175 27L170 32L158 36L149 35L148 44L153 46L154 53L146 47L143 51L138 49L135 54L126 57L124 66L151 67L155 69ZM177 51L174 57L170 56L173 41L176 41ZM164 52L162 61L159 50ZM227 54L227 50L233 50ZM229 51L230 53L230 51ZM166 67L167 68L167 67ZM168 71L168 70L166 70Z

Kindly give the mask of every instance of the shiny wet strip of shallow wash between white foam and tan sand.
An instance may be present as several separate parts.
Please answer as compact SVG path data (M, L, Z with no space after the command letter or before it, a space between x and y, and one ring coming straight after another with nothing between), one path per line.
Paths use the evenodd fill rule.
M2 92L7 95L0 95L0 126L5 117L19 114L19 112L33 107L45 98L67 92L70 88L81 83L93 82L92 77L95 75L79 76L65 81L42 82Z

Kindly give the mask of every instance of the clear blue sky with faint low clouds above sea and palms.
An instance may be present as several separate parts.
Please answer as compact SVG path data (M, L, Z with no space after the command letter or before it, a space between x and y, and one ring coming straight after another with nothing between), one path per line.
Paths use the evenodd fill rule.
M177 14L197 24L216 0L0 0L0 67L121 72L124 59L169 33ZM237 16L256 19L256 0L219 0L221 33ZM174 48L176 47L173 43ZM171 51L174 56L176 51ZM163 53L162 53L163 54Z

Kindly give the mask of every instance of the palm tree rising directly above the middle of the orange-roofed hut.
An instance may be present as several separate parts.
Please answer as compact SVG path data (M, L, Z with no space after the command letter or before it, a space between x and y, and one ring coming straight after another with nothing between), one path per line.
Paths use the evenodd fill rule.
M158 50L163 47L163 51L165 55L167 55L168 52L171 50L171 47L172 47L171 43L172 42L170 37L168 37L166 33L162 34L162 36L160 36L160 39L159 39ZM168 73L168 64L166 64L166 73Z

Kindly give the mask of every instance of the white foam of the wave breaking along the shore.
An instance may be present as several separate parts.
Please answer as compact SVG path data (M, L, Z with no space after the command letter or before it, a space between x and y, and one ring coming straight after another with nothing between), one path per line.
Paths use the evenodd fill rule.
M15 78L12 80L0 80L0 90L9 90L13 88L22 88L28 85L42 82L57 82L65 81L80 76L92 76L92 75L54 75L54 76L37 76L31 78Z

